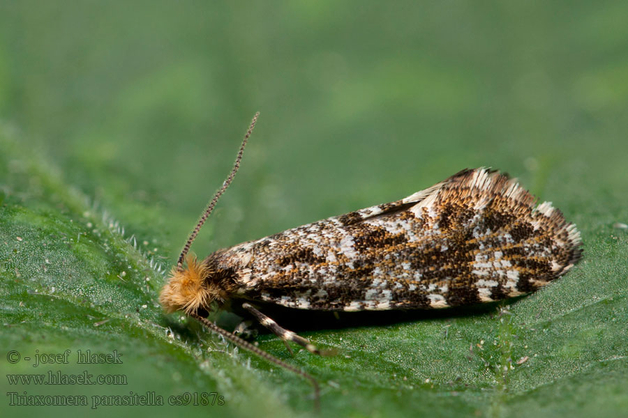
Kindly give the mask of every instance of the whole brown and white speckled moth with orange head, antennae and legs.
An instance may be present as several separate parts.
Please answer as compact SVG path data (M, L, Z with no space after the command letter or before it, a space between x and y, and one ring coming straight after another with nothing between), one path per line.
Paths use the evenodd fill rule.
M294 309L428 309L493 302L529 293L565 274L582 254L580 233L550 202L491 169L465 169L410 196L330 217L260 240L186 258L235 172L211 200L160 295L214 332L311 380L304 371L227 332L199 312L237 302L284 341L319 353L255 302ZM184 266L184 261L187 261Z

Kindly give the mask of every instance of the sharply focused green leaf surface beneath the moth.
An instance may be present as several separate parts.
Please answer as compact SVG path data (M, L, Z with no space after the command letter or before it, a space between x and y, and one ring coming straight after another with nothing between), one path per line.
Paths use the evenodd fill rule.
M22 361L3 369L87 370L128 380L121 388L4 382L4 392L82 394L90 405L91 396L128 392L154 392L165 403L169 396L216 392L224 397L220 408L227 415L312 410L308 382L204 334L181 314L165 316L157 303L164 281L158 254L138 245L45 162L24 157L29 153L18 141L6 133L0 141L6 150L1 174L8 179L8 198L0 208L2 346L22 357L33 357L36 350L71 351L70 364L33 367ZM260 347L316 376L326 413L620 411L628 380L628 278L622 256L627 238L613 229L611 219L600 223L598 216L596 226L585 214L579 217L584 261L567 277L512 304L303 333L338 350L335 357L299 351L290 358L269 335L258 339ZM124 366L76 364L77 350L116 350Z

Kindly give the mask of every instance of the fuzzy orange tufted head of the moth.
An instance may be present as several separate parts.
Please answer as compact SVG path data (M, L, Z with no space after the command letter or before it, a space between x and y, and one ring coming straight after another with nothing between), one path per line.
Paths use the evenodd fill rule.
M169 314L185 311L186 314L199 308L209 310L209 304L219 298L218 288L210 280L213 271L195 257L188 257L186 266L170 271L167 284L161 289L159 302Z

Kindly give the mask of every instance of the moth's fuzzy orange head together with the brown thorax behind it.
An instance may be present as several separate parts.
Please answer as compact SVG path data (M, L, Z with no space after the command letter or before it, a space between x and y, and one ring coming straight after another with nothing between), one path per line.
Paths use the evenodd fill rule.
M200 308L209 310L211 302L230 299L251 260L246 245L218 250L200 262L188 257L182 270L173 268L159 296L164 309L169 313L179 310L190 313Z

